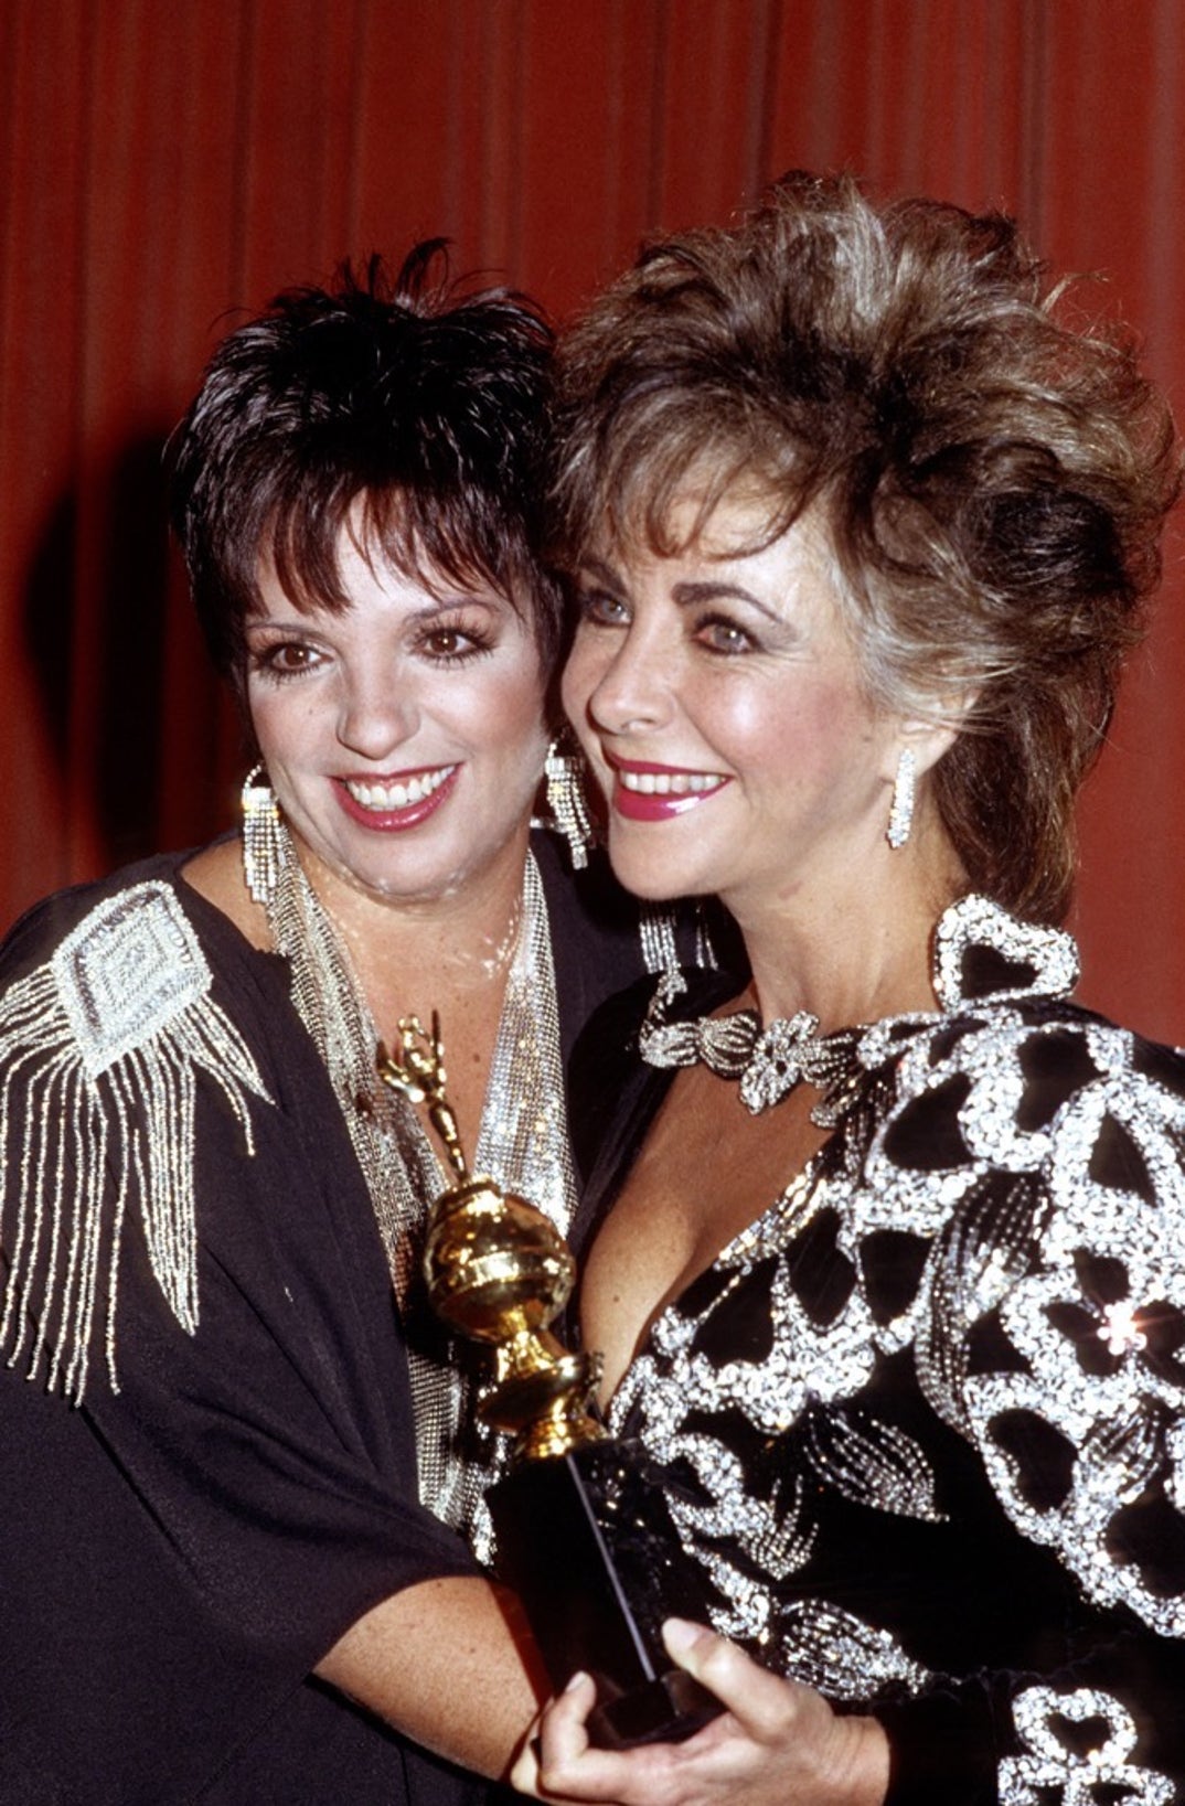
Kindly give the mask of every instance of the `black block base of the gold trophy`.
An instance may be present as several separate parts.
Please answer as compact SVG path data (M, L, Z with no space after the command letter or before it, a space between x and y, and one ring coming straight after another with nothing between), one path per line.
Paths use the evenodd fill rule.
M596 1683L592 1743L679 1743L723 1712L663 1647L663 1618L704 1622L706 1607L667 1501L629 1445L524 1461L488 1503L499 1575L522 1600L553 1687L578 1669Z

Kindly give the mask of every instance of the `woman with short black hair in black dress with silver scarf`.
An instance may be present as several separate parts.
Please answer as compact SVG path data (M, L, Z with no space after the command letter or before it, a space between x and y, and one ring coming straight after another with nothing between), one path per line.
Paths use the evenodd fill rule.
M5 1801L444 1802L535 1710L457 1535L493 1450L417 1286L444 1176L376 1044L439 1010L466 1147L565 1224L565 1064L643 966L531 834L549 363L425 246L231 332L175 435L260 766L242 836L0 961Z

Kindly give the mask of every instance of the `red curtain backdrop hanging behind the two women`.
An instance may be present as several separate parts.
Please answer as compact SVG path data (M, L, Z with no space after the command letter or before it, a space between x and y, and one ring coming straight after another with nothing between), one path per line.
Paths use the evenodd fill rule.
M0 0L0 923L231 820L161 448L237 311L423 235L564 316L784 168L1015 211L1185 390L1180 0ZM1082 809L1089 1002L1185 1040L1180 531Z

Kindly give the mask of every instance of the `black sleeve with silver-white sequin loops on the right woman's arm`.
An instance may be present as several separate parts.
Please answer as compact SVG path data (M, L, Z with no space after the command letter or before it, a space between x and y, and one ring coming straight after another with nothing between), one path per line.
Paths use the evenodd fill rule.
M900 1203L947 1199L916 1371L1017 1550L983 1550L1010 1663L878 1708L892 1806L938 1799L943 1773L952 1801L1178 1799L1185 1060L1087 1015L1015 1006L925 1037L900 1085L869 1178ZM923 1149L945 1152L930 1165ZM1057 1615L1033 1609L1053 1568Z

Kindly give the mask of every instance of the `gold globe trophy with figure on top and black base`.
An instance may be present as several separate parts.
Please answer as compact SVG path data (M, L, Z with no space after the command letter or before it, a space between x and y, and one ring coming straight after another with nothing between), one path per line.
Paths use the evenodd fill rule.
M663 1618L706 1618L659 1486L638 1452L591 1409L598 1354L551 1333L576 1277L555 1224L493 1179L471 1176L446 1094L439 1019L399 1024L378 1049L381 1080L423 1103L457 1183L428 1219L425 1279L437 1315L495 1349L479 1410L513 1436L511 1465L488 1494L499 1577L522 1600L556 1692L576 1669L596 1683L594 1743L629 1748L690 1736L721 1705L672 1665Z

